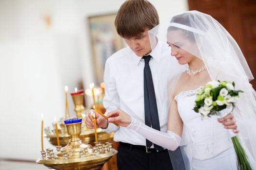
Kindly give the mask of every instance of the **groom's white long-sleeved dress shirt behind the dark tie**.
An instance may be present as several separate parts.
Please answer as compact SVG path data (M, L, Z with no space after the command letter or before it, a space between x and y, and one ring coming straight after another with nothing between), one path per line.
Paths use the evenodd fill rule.
M171 56L171 48L167 43L158 42L151 51L149 66L156 93L160 129L167 131L168 93L167 85L181 66ZM135 119L145 123L144 116L144 59L137 56L129 47L124 48L106 61L104 71L105 98L103 100L106 113L121 109ZM154 121L154 120L152 120ZM134 145L146 145L145 137L132 129L115 126L109 123L106 132L116 131L115 141Z

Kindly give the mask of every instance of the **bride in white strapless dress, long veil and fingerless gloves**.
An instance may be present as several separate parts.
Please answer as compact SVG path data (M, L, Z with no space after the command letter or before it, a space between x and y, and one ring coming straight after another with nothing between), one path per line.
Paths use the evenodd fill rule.
M152 129L122 110L109 112L109 122L131 128L169 150L183 146L186 168L194 170L237 169L236 153L227 130L237 133L237 124L249 162L256 169L256 133L252 132L256 129L256 100L249 83L253 75L234 38L213 17L197 11L168 19L150 30L149 36L152 48L158 39L164 39L178 63L188 66L176 81L169 83L168 130ZM244 91L233 110L236 120L232 114L224 119L201 119L193 111L197 89L212 80L234 81L236 88Z

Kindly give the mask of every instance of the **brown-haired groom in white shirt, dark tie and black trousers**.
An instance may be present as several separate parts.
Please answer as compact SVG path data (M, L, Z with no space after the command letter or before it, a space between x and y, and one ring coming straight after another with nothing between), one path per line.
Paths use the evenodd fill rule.
M156 8L147 0L126 0L118 10L115 26L129 46L108 58L104 71L106 113L122 109L146 125L167 131L167 84L177 64L166 43L152 50L148 30L159 24ZM116 132L118 170L184 170L180 149L174 152L146 140L137 132L117 127L98 115L98 126ZM86 125L94 128L87 115Z

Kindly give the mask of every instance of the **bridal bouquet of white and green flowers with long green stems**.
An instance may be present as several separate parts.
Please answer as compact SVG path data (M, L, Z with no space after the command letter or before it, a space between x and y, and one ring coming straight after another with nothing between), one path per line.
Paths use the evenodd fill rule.
M233 111L241 92L243 91L235 89L234 82L209 82L197 91L194 111L200 113L202 119L211 115L224 117ZM252 170L238 136L232 137L232 142L236 151L238 170Z

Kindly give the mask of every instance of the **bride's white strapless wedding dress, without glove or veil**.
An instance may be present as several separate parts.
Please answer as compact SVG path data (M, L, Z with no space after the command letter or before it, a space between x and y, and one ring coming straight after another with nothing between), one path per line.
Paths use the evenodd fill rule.
M201 119L192 110L196 101L196 90L175 96L179 115L184 124L181 144L192 162L193 170L237 170L236 153L228 130L217 121L217 116ZM183 156L184 157L184 156ZM192 159L192 160L191 160ZM191 166L191 165L190 165Z

